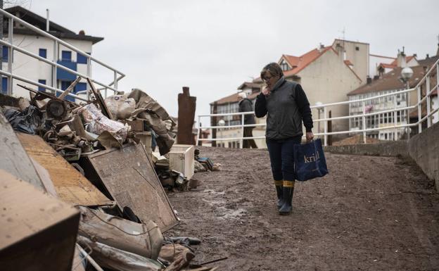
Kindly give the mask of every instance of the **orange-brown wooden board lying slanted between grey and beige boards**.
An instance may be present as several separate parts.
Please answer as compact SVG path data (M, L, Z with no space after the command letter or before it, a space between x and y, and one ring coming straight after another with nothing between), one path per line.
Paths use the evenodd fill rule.
M27 154L49 172L61 200L85 206L113 204L41 137L23 133L17 133L17 136Z

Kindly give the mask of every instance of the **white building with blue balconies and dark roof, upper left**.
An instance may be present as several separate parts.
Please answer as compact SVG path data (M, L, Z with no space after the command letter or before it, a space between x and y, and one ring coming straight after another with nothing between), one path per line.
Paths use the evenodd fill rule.
M5 11L11 13L18 18L25 20L25 22L38 27L41 30L46 30L46 18L40 15L32 13L25 8L20 6L15 6L12 8L6 8ZM8 41L8 18L4 17L4 40ZM49 34L62 39L64 42L68 42L77 49L81 49L89 54L92 53L92 46L96 42L103 40L102 37L92 37L84 34L84 31L80 31L79 34L72 32L71 30L62 27L56 23L49 23ZM65 67L75 70L78 73L87 74L87 58L72 51L65 46L58 46L58 56L54 56L54 46L53 41L47 37L42 37L32 30L25 28L20 23L14 21L13 25L13 44L19 46L20 48L26 49L32 53L39 56L47 58L49 60L55 60L58 64L64 65ZM8 70L8 47L3 46L3 65L2 70ZM13 74L26 77L29 80L33 80L42 84L47 84L58 89L66 89L72 81L76 79L76 75L68 73L65 70L57 68L56 70L56 82L53 82L52 68L51 65L39 61L35 58L30 58L29 56L20 53L18 51L13 51ZM2 77L1 81L1 93L7 93L8 78ZM13 80L12 94L13 96L23 96L28 98L29 92L17 84L25 84L19 80ZM29 85L29 84L27 84ZM30 86L32 87L32 86ZM44 88L38 87L39 91L45 91ZM79 82L72 93L76 93L87 89L87 83L84 79ZM68 97L68 99L72 99Z

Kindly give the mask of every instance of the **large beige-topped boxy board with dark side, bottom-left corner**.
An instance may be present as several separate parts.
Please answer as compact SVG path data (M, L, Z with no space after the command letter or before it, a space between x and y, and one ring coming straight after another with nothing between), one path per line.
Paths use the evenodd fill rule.
M79 212L0 170L0 269L70 271Z

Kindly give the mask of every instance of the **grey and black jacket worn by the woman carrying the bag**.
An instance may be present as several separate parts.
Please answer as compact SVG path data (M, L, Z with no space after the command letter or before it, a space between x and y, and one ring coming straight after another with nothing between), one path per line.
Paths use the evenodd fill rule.
M268 114L268 115L267 115ZM267 139L288 139L302 136L302 121L307 132L312 132L310 102L300 84L281 77L269 96L256 97L255 115L267 115Z

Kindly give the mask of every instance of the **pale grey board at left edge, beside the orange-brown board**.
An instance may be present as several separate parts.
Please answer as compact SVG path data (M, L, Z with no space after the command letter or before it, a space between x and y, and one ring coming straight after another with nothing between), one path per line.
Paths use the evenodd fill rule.
M44 185L15 132L0 110L0 169L44 191Z

